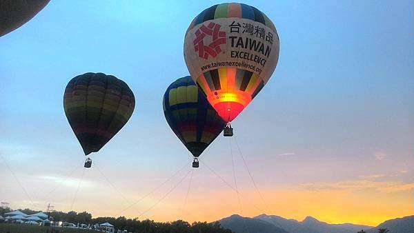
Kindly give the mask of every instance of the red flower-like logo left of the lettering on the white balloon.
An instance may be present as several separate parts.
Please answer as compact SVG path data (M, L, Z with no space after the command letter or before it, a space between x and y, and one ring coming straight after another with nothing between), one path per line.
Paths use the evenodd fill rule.
M226 32L220 31L221 26L210 22L208 26L204 24L195 31L194 50L199 52L199 57L208 59L208 55L216 57L221 52L220 45L226 43ZM204 37L213 37L211 43L204 45Z

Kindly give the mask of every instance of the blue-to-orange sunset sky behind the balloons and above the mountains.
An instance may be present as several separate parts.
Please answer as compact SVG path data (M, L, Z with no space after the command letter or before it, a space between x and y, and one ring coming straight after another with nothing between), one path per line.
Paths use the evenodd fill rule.
M414 2L244 1L275 23L279 62L235 136L192 170L161 100L188 75L191 20L217 3L50 1L0 37L0 201L155 221L413 215ZM136 99L88 170L63 111L85 72L115 75Z

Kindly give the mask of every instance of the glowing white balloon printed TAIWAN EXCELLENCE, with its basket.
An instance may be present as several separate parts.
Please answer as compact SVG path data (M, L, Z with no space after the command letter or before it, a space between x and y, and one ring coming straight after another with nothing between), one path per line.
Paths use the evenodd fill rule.
M279 59L279 36L266 15L242 3L201 12L184 39L184 59L208 102L230 122L270 79ZM225 136L227 129L224 130Z

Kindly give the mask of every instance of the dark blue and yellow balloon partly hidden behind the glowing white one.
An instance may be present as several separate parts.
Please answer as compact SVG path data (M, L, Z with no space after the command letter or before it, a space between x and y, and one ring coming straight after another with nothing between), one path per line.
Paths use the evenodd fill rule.
M198 168L197 158L221 133L226 122L189 76L171 83L162 102L168 125L193 154L193 168Z

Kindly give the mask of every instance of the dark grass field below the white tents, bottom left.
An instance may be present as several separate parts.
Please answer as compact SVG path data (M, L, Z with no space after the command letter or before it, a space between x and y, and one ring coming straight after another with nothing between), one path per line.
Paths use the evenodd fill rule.
M63 227L43 227L41 225L22 225L12 223L0 223L0 233L97 233L95 230L72 229Z

